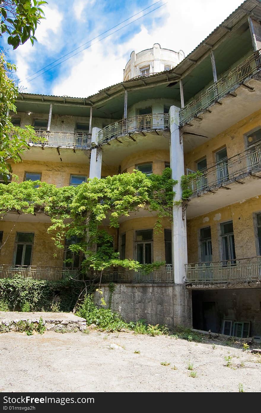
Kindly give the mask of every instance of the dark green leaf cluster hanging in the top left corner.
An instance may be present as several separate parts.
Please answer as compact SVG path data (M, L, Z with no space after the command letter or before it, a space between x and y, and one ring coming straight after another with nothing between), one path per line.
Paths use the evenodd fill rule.
M41 6L47 4L45 1L33 0L1 0L0 1L0 37L3 33L9 34L7 43L16 49L30 39L31 43L36 40L34 36L37 24L44 18Z

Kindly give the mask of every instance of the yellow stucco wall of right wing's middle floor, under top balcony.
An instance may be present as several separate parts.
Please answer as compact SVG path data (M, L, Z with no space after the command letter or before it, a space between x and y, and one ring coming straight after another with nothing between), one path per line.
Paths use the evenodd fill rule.
M199 145L194 150L184 155L184 169L197 170L197 161L206 157L207 168L216 163L215 152L226 147L228 158L243 152L247 149L247 142L244 134L252 129L261 126L261 109L254 112L247 118L226 129L215 138L210 139L203 145ZM196 139L196 137L195 137Z

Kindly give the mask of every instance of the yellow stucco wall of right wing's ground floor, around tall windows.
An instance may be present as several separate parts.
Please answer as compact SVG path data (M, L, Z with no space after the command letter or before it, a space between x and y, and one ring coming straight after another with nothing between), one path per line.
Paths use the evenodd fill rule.
M213 261L222 260L220 224L226 221L233 221L236 258L259 255L255 223L255 214L259 212L261 212L261 197L256 196L187 221L188 262L201 261L199 230L208 226L211 227Z

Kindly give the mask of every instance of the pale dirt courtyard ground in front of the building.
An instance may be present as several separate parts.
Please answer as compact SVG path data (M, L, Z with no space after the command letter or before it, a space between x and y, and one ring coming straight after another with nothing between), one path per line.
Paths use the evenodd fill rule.
M0 392L238 392L240 383L261 391L261 356L132 332L3 333L0 366Z

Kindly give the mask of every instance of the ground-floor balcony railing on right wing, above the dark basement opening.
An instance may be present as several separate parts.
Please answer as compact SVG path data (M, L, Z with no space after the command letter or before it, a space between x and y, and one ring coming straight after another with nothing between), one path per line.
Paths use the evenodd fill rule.
M261 256L235 261L192 263L185 265L186 282L214 284L261 280Z

